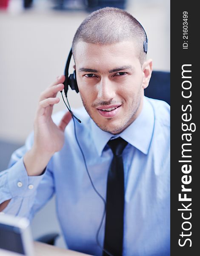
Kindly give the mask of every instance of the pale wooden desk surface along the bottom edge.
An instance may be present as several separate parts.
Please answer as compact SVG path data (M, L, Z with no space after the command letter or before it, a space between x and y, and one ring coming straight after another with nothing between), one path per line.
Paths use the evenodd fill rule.
M22 254L17 254L22 255ZM34 256L89 256L89 254L78 253L72 250L66 250L53 245L34 241ZM16 253L1 251L0 256L16 256Z

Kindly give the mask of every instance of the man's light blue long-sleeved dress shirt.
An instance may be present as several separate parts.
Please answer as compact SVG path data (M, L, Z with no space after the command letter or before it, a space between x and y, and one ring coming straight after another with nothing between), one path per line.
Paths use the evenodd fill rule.
M163 101L144 97L140 115L119 134L129 143L123 151L123 256L170 255L169 109ZM64 113L57 113L54 122L59 123ZM75 121L76 131L91 179L106 198L107 174L113 157L106 144L114 136L100 130L84 108L74 114L82 121L81 124ZM12 198L4 212L31 219L56 193L57 217L69 249L100 256L102 251L97 246L96 233L104 204L91 186L72 120L65 130L64 146L53 155L46 172L29 177L23 154L32 143L33 134L25 146L14 152L11 167L0 172L0 203ZM99 234L101 245L104 229L105 218Z

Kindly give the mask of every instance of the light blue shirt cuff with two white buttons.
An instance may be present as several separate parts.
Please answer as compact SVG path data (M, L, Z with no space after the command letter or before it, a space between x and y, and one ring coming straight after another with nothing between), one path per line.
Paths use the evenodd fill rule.
M44 173L39 176L28 176L23 163L23 157L17 161L8 172L8 185L12 198L29 197L37 190Z

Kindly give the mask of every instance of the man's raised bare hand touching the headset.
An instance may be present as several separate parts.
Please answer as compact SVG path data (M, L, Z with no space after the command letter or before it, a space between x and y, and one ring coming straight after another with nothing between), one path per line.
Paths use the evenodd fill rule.
M34 119L34 143L30 151L24 155L24 164L28 175L40 175L45 169L51 156L60 151L64 144L64 130L71 119L71 114L66 112L56 125L52 118L54 104L60 99L57 93L63 90L65 76L57 80L40 94L37 112Z

